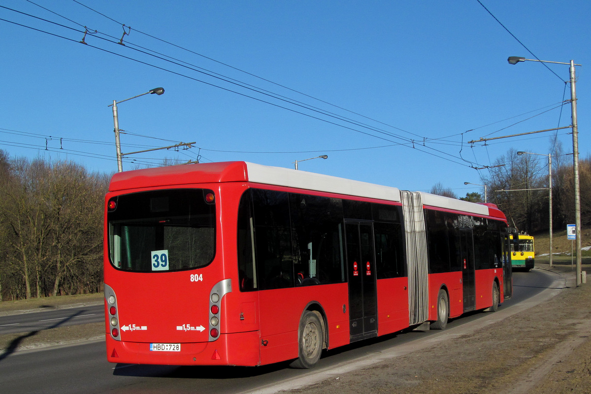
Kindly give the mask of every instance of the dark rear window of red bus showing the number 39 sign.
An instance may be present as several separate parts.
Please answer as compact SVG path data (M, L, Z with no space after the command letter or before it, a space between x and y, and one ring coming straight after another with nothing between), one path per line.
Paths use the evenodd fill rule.
M108 202L109 259L126 271L200 268L215 255L212 190L146 191Z

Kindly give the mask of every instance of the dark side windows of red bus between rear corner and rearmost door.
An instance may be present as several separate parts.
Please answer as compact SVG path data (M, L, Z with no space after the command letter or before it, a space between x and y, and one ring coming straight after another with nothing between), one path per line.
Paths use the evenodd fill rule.
M246 191L238 212L242 291L346 281L342 223L339 198Z

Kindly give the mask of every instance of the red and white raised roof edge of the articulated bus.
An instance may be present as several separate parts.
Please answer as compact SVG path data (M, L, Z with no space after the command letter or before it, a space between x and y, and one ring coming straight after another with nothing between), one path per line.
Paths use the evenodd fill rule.
M251 182L385 201L401 201L400 189L395 187L244 161L175 165L117 172L111 179L109 191L225 182ZM505 220L505 215L494 204L475 204L435 194L423 192L420 194L424 206L427 207L462 211Z

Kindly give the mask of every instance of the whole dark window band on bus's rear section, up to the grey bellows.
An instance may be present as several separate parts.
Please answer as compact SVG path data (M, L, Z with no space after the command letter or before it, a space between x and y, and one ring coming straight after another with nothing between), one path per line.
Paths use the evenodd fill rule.
M250 189L238 211L242 291L345 282L345 217L375 221L378 279L406 275L400 207Z

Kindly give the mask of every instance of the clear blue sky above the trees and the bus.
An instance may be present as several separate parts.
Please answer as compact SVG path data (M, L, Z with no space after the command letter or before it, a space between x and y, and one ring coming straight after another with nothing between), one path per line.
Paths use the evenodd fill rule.
M570 125L569 67L506 61L522 56L583 64L588 157L591 2L480 2L5 0L0 149L114 172L108 105L161 86L118 105L122 151L196 144L129 155L124 170L164 158L293 168L326 154L299 169L461 197L488 175L473 167L511 148L548 154L556 137L572 152L570 129L467 144ZM98 31L88 45L85 26Z

